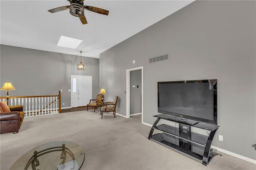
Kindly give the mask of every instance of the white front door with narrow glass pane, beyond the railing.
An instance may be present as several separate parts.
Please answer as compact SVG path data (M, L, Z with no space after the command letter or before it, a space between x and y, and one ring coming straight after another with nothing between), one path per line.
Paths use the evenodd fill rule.
M71 75L71 107L86 106L92 99L92 76Z

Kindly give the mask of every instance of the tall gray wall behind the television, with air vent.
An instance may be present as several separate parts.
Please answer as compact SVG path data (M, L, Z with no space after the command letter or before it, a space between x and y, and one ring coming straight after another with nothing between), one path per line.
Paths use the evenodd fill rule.
M256 160L255 8L256 1L193 2L101 53L100 86L119 96L117 113L126 115L126 69L143 66L144 122L152 125L158 81L218 79L213 145ZM149 63L164 54L168 60Z

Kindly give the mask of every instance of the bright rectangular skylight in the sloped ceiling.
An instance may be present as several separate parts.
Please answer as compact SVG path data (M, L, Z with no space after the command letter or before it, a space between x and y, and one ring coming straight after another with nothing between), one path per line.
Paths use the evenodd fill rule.
M59 40L57 46L76 49L76 47L78 47L78 45L82 41L83 40L78 40L78 39L75 39L75 38L69 38L69 37L65 37L65 36L60 36L60 40Z

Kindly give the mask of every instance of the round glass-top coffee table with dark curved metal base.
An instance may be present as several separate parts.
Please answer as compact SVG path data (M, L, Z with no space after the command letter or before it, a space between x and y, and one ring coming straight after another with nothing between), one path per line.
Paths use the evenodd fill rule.
M28 151L10 170L79 170L84 158L83 149L75 142L55 141Z

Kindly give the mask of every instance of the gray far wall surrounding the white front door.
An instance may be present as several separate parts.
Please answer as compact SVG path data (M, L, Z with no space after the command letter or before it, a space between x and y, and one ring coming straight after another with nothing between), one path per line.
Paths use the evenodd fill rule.
M82 57L85 71L76 69L80 63L78 56L36 49L1 45L1 87L5 81L12 82L16 90L10 96L58 95L61 96L62 107L70 107L71 76L92 76L92 96L99 93L99 59ZM6 91L1 91L1 97ZM85 103L84 105L87 105Z

